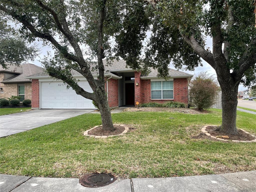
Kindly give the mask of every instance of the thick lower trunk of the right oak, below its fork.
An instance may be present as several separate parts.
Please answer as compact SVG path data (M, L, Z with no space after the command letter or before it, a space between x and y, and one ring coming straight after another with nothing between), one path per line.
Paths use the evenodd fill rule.
M220 130L227 134L236 135L238 86L230 88L228 83L224 84L221 86L222 124Z

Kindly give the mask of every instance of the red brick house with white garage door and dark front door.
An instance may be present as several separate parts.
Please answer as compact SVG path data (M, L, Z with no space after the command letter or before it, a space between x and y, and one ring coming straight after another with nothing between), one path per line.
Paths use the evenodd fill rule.
M105 60L103 60L104 65ZM178 101L188 103L188 84L193 75L169 69L170 79L165 81L157 77L157 70L151 69L147 75L141 71L126 68L124 60L113 61L105 65L105 89L110 107L135 105L139 103ZM92 72L95 79L97 72ZM89 83L77 71L74 78L84 90L92 92ZM59 80L42 72L28 76L32 79L32 107L39 109L95 109L92 101L67 89Z

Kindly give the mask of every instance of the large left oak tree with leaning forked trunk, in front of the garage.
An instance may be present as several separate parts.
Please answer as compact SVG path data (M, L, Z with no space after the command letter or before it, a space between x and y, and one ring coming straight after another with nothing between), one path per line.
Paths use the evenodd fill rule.
M94 100L100 109L103 129L114 130L105 94L106 71L102 59L106 58L107 65L111 65L111 60L119 58L118 54L114 57L113 52L119 52L120 44L115 44L115 41L121 42L123 23L136 25L135 32L139 31L139 34L137 36L134 32L136 38L133 40L131 36L130 39L137 41L136 48L140 50L140 39L144 39L146 33L143 26L148 26L145 25L147 17L143 6L146 5L142 1L128 0L5 0L1 1L0 10L3 17L11 16L22 26L19 28L22 38L29 42L41 39L45 45L50 43L54 56L48 53L42 60L46 71L77 94ZM72 70L87 79L93 93L78 85ZM97 79L92 71L97 72Z

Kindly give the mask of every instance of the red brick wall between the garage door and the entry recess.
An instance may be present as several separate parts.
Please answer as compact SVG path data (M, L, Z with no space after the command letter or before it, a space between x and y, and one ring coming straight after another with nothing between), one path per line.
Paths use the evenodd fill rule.
M110 107L118 107L118 79L108 80L108 102Z

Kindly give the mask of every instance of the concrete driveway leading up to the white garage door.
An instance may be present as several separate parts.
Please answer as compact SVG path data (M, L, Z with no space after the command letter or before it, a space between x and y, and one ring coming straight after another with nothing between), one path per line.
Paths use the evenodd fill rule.
M64 119L90 113L93 109L40 109L0 116L0 137L27 131Z

